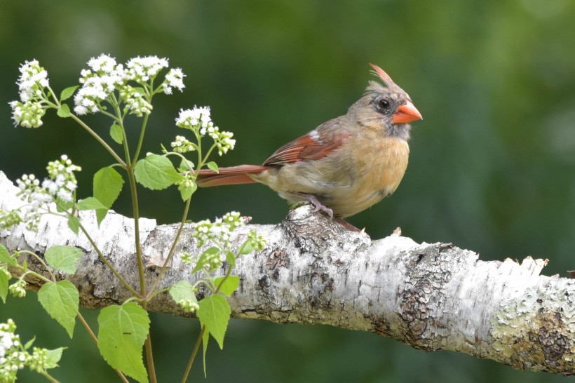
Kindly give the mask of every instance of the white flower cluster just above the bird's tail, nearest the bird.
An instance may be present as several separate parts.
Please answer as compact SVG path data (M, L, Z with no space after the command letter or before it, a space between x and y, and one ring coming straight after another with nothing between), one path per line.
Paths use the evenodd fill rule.
M194 109L181 109L180 115L176 119L176 126L192 130L200 137L206 134L212 137L217 147L217 153L221 156L234 149L236 140L234 133L220 132L217 126L214 126L210 118L210 107L194 107Z

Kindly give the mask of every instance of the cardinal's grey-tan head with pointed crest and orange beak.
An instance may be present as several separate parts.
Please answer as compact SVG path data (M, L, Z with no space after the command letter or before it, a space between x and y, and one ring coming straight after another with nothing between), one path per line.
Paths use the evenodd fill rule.
M383 81L370 81L358 102L348 111L365 128L384 130L384 135L408 140L412 121L423 119L405 90L377 65L370 64L374 74Z

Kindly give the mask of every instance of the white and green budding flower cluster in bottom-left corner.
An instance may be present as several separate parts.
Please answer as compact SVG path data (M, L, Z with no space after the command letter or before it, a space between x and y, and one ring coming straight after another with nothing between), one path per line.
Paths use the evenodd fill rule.
M34 347L32 354L29 354L15 331L16 325L12 319L0 323L0 382L3 383L15 382L18 370L26 365L38 372L51 367L48 365L48 349Z

